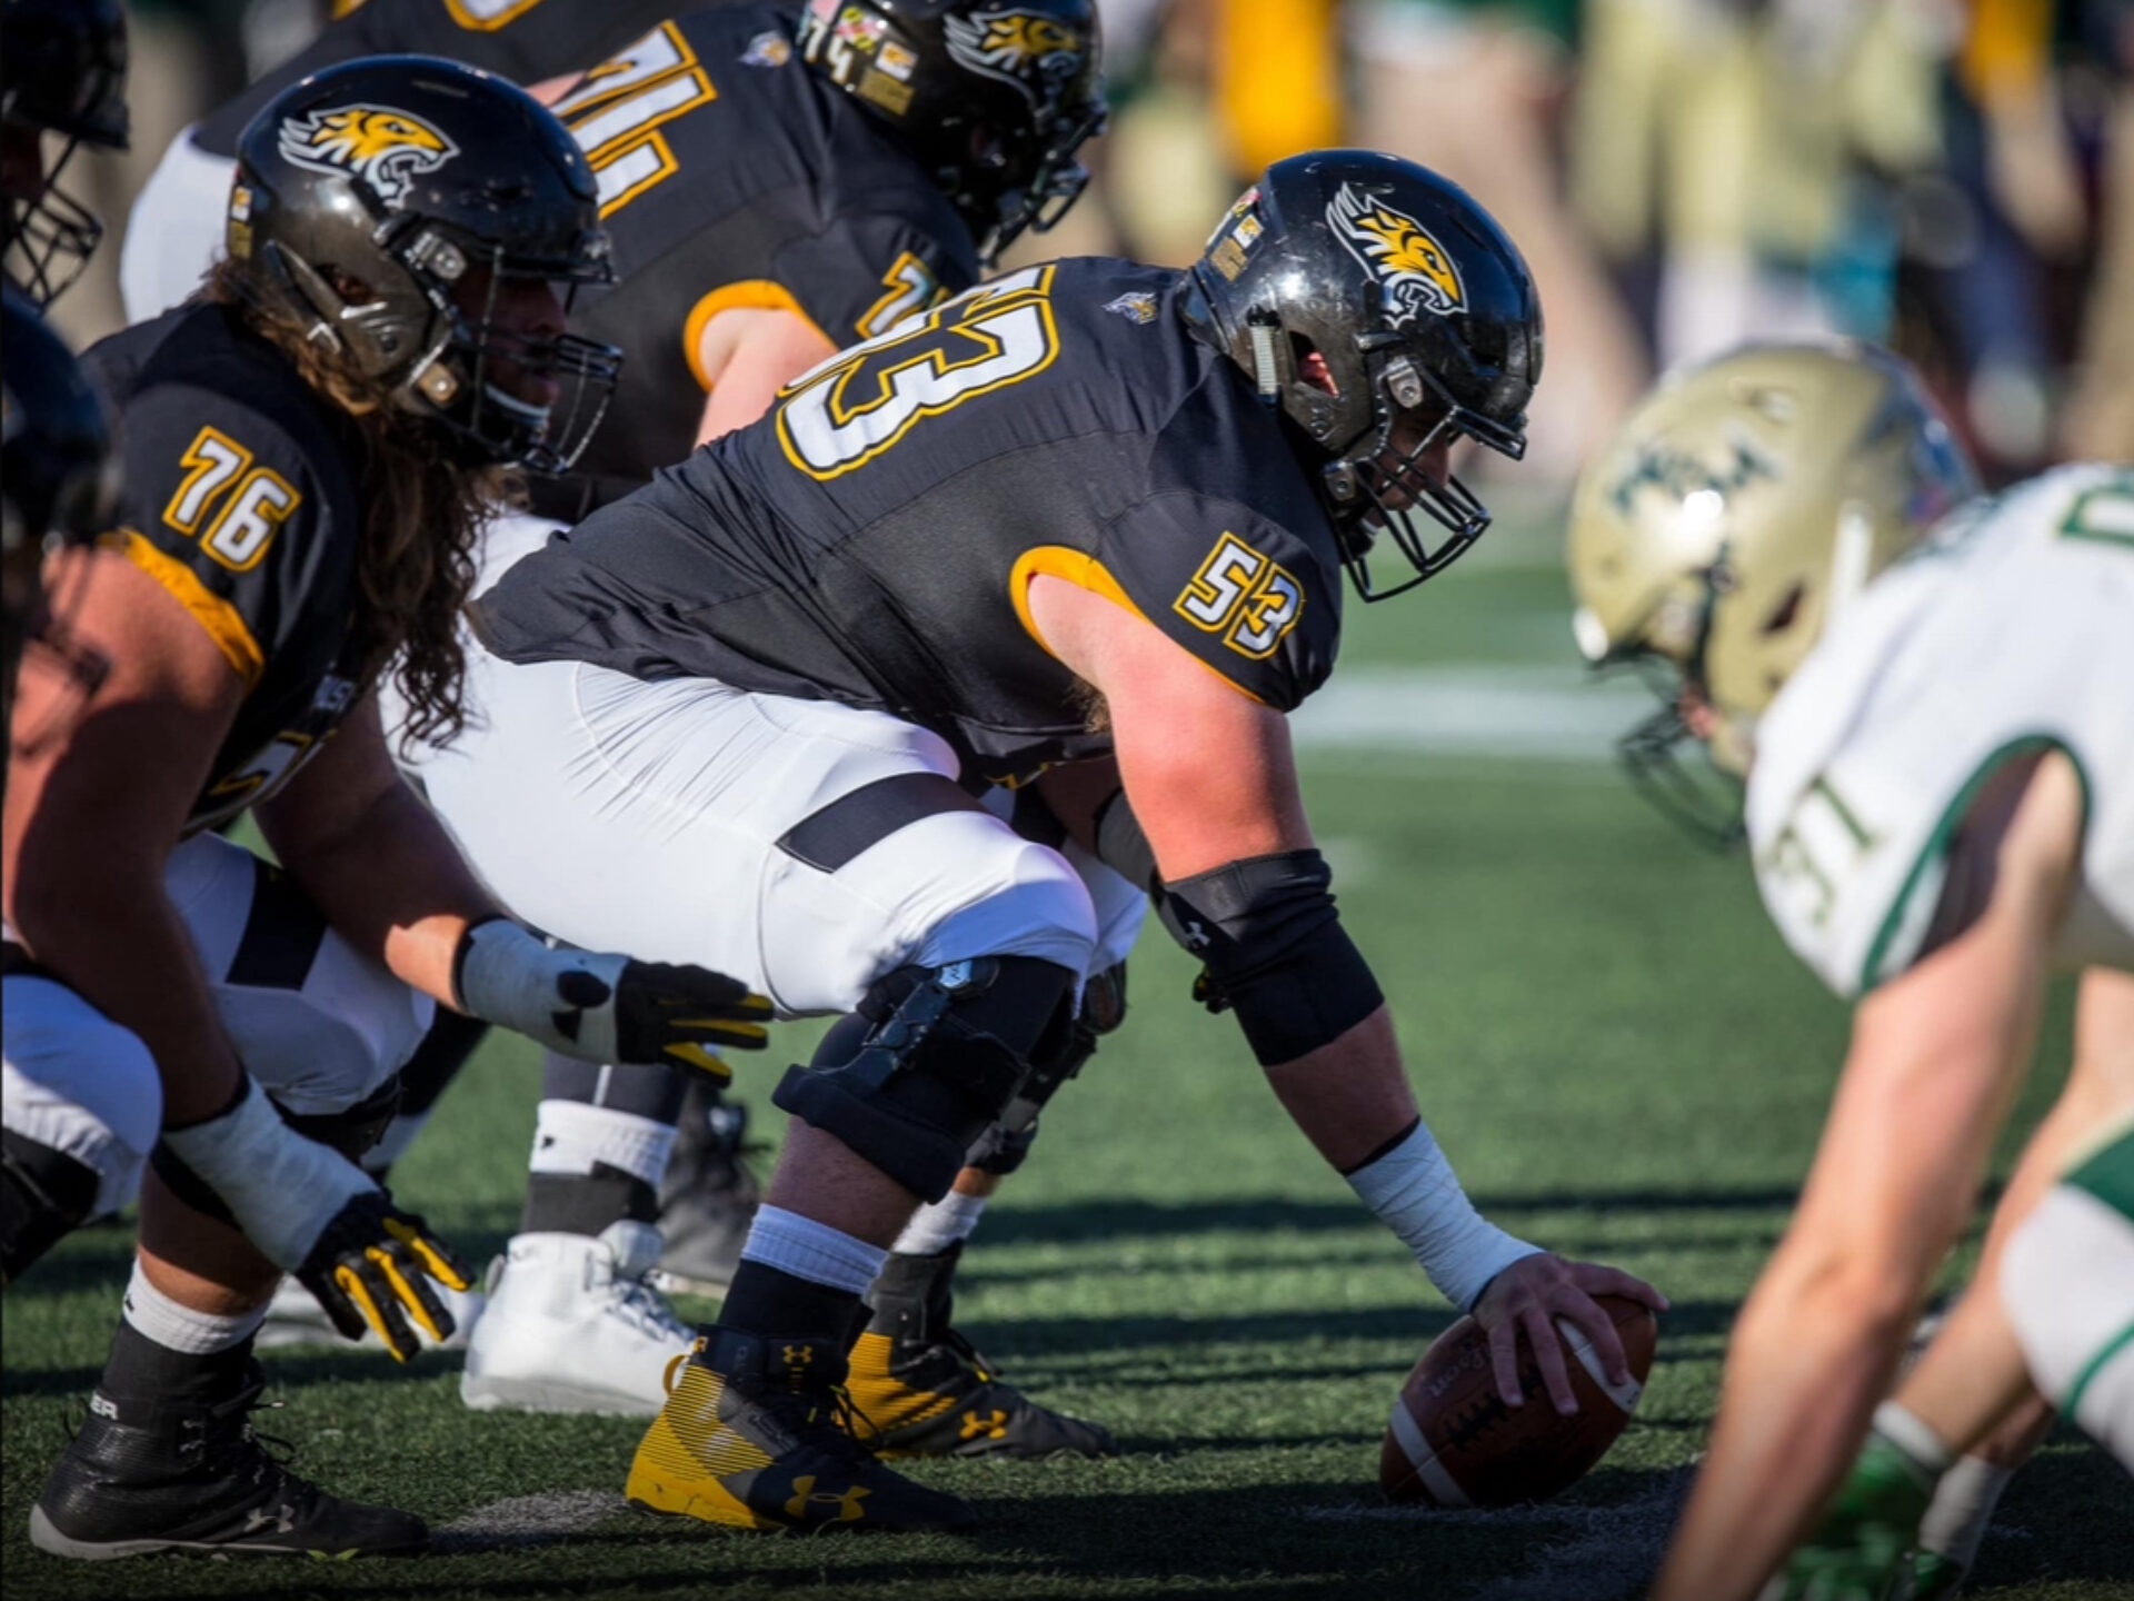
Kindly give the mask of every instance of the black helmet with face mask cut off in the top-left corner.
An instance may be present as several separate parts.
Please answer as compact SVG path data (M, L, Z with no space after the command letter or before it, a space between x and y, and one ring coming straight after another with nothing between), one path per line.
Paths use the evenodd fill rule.
M79 278L105 228L60 173L79 145L126 149L126 13L120 0L6 0L6 273L38 305ZM43 137L60 139L45 169Z

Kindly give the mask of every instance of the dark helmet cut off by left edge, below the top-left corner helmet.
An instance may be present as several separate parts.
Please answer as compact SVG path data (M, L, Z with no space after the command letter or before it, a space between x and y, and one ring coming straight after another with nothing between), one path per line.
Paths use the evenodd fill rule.
M58 653L81 694L96 687L102 662L77 651L66 619L47 604L38 568L58 544L87 544L117 517L117 467L102 397L81 363L60 344L28 297L0 292L0 574L4 574L4 694L15 709L15 666L23 647ZM64 608L60 608L64 611ZM21 730L0 745L34 745ZM4 771L4 766L0 766Z

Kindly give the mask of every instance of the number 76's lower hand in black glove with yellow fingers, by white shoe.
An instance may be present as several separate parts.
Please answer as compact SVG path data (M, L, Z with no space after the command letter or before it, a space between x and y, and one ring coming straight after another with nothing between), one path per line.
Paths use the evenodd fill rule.
M341 1334L359 1341L365 1328L376 1330L395 1362L423 1349L408 1319L440 1345L452 1334L452 1315L431 1281L446 1289L469 1283L465 1266L429 1223L399 1210L376 1185L327 1221L297 1266L297 1279Z

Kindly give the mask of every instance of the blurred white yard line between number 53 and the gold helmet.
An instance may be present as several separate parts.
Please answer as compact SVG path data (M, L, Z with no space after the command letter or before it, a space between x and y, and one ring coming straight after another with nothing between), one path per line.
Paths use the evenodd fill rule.
M1577 666L1351 666L1289 722L1308 751L1607 762L1652 704L1635 679L1590 683Z

